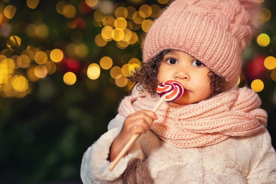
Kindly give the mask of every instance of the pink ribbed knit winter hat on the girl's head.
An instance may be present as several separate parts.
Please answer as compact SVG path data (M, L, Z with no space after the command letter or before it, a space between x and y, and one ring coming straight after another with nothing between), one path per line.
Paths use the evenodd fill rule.
M175 0L155 19L143 44L143 61L163 49L196 57L234 86L241 53L257 32L259 3L253 0Z

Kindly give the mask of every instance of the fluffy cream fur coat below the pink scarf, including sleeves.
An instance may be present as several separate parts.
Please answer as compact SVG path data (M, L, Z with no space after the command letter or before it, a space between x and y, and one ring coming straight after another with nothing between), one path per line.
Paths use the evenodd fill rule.
M124 120L117 114L109 122L108 132L84 153L80 172L84 184L122 183L121 175L132 158L143 160L157 184L276 183L276 153L266 128L250 137L230 137L201 148L176 148L148 131L109 171L109 147Z

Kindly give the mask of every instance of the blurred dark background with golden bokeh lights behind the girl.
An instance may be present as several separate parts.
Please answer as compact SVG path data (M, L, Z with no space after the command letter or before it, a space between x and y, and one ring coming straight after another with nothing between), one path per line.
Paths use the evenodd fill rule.
M131 91L128 72L168 3L0 2L0 183L82 183L82 156ZM276 148L276 3L259 3L263 28L243 53L239 87L259 94Z

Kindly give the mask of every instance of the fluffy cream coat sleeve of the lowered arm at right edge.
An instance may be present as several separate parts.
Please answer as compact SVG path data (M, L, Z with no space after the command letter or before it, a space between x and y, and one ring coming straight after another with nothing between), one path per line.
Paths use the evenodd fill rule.
M276 153L269 132L265 129L259 149L251 159L251 170L246 177L248 184L276 183Z

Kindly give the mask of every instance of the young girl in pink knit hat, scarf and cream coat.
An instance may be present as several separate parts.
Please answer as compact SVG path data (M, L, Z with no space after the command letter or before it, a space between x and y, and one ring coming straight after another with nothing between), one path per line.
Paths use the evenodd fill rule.
M236 88L241 53L256 33L253 0L176 0L144 40L137 82L117 116L85 152L83 183L276 183L267 114L251 89ZM159 101L160 82L186 89ZM132 135L139 139L109 171Z

